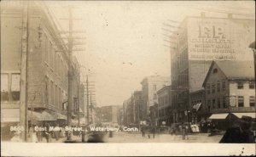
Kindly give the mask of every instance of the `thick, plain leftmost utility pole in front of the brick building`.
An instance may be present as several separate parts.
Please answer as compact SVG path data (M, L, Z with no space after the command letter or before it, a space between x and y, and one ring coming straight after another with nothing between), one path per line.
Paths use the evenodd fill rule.
M27 142L27 54L29 46L29 1L24 2L22 13L21 68L20 68L20 126L21 139Z

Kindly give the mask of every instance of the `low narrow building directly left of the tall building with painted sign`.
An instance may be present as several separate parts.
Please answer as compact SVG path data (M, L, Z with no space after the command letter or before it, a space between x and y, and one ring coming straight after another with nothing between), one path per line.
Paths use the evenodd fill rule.
M157 91L158 98L158 126L171 126L173 123L172 114L172 87L162 87Z

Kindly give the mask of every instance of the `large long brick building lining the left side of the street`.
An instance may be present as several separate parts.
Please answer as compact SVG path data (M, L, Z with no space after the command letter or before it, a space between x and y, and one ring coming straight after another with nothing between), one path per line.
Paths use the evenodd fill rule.
M43 2L2 2L1 32L1 127L20 125L21 119L27 126L65 124L69 58L49 8ZM74 80L80 84L79 75Z

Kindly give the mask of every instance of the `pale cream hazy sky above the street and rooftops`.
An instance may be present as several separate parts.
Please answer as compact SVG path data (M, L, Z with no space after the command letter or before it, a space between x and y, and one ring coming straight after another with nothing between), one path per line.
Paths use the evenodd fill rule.
M68 30L68 6L73 6L73 30L85 31L82 52L74 52L83 76L89 75L97 106L122 105L141 90L146 76L171 76L170 32L186 16L255 19L253 1L50 1L47 2L61 29ZM177 22L172 22L177 21ZM79 47L78 47L79 48ZM90 70L90 72L88 72ZM84 79L85 77L82 77Z

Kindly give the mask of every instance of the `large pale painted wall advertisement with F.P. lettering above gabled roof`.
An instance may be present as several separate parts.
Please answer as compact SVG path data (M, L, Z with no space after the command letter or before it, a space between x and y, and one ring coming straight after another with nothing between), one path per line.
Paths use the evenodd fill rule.
M250 60L255 41L253 20L190 18L189 59Z

